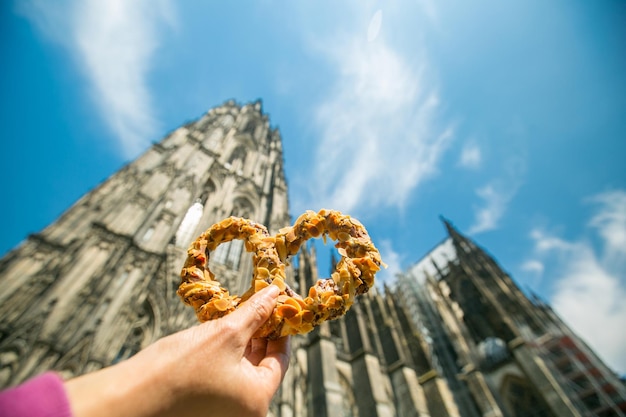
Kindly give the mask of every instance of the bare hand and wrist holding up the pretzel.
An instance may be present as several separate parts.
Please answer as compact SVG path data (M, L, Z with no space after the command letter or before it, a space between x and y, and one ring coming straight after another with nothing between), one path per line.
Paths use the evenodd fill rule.
M269 318L278 292L271 285L219 320L67 381L76 417L265 416L289 364L289 340L252 335Z

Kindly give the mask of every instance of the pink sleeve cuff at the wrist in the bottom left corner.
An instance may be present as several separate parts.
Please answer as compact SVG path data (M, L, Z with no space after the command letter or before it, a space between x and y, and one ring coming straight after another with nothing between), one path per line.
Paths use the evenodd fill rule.
M63 380L46 372L0 392L0 416L72 417Z

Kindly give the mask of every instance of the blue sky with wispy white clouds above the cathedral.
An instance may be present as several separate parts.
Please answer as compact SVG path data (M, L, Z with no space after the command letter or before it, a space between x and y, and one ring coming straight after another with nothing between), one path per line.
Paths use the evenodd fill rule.
M294 218L358 218L392 283L444 216L625 375L625 45L619 0L1 2L0 255L261 99Z

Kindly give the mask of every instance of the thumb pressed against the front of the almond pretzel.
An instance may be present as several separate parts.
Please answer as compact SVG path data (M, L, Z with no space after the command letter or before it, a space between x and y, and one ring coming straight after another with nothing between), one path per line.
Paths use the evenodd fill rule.
M224 317L223 320L235 323L240 329L238 335L247 343L254 332L267 321L274 311L279 293L280 289L276 285L263 288L241 304L237 310Z

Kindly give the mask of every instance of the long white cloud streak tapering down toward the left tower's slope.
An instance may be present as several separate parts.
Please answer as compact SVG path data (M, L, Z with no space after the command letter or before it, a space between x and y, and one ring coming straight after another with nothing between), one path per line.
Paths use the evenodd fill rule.
M147 147L158 123L146 78L163 26L175 24L169 1L31 0L18 7L76 59L123 155Z

